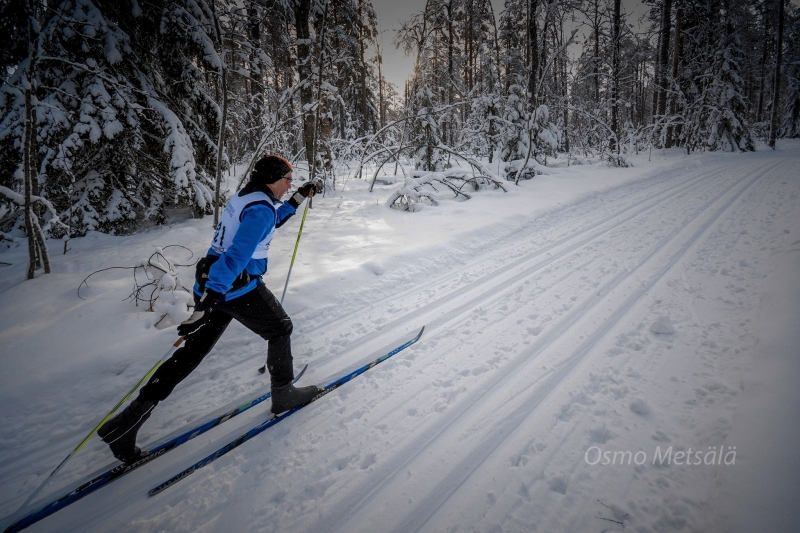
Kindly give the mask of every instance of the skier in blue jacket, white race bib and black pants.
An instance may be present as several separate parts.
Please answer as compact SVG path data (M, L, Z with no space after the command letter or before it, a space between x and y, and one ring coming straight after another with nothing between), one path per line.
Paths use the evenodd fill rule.
M211 248L198 262L194 313L178 326L186 344L159 367L128 407L97 432L117 459L133 463L144 456L136 446L139 428L158 402L197 368L232 319L268 342L273 413L306 404L320 391L316 386L292 384L292 321L261 279L275 228L295 213L314 188L306 183L281 203L291 183L292 165L283 157L269 155L256 162L247 185L228 202Z

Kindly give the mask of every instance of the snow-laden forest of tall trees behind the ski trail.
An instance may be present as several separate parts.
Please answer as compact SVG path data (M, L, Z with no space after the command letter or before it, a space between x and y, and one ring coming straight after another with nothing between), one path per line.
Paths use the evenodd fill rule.
M384 39L369 0L1 0L0 245L27 244L30 278L48 238L216 223L222 173L273 152L328 188L411 172L390 203L413 210L433 177L458 196L800 135L791 3L624 7L429 0ZM403 87L385 40L413 59Z

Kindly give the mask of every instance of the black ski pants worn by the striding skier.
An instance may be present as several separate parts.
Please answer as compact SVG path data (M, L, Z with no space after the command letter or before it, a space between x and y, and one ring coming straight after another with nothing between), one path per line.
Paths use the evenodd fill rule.
M198 299L195 295L195 303ZM184 346L175 350L172 357L156 370L142 387L139 398L160 402L169 396L208 355L233 319L268 342L267 368L272 386L290 383L294 379L290 340L292 320L278 299L261 284L247 294L214 306L208 322L186 337Z

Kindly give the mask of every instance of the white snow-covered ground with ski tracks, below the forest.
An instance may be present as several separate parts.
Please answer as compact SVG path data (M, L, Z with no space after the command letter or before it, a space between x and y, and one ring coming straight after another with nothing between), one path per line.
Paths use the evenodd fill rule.
M383 205L398 185L340 183L314 201L286 296L300 384L426 325L420 342L155 497L268 405L30 530L797 530L800 144L633 162L417 213ZM272 244L278 294L299 223ZM54 242L33 281L24 247L0 254L0 516L176 337L122 301L131 271L93 276L85 300L80 282L170 244L197 257L211 233ZM140 444L267 390L264 355L232 325ZM112 463L94 439L46 492Z

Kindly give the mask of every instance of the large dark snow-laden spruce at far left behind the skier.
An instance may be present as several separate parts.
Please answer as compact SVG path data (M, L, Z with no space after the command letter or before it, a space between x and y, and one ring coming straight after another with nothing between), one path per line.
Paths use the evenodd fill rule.
M32 58L36 168L41 194L68 213L70 232L129 231L164 220L169 205L208 212L221 122L208 5L39 8L49 16ZM23 71L0 89L5 169L20 164Z

